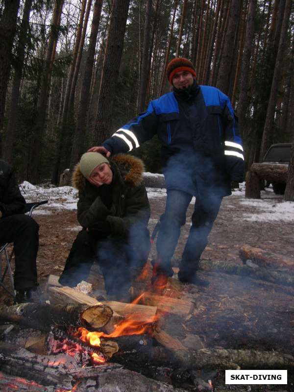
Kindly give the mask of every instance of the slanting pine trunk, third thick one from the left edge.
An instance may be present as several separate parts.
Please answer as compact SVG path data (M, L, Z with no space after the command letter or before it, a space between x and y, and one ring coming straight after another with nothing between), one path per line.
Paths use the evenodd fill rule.
M42 143L43 135L46 126L47 104L49 96L49 87L51 83L51 74L53 68L53 61L55 58L56 44L58 39L58 28L60 26L60 19L62 13L64 0L56 0L53 11L51 30L49 35L48 46L46 50L46 58L44 62L44 71L42 74L41 89L37 103L37 119L34 126L34 140L31 156L31 166L29 170L29 179L36 183L40 179L41 158L42 158Z

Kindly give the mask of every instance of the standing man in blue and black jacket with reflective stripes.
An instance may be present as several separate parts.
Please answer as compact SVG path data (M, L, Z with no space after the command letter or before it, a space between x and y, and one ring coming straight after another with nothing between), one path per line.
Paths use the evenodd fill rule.
M171 259L180 228L186 222L191 199L196 196L178 278L181 282L207 285L197 278L196 272L222 197L231 195L231 181L243 181L242 141L229 98L215 87L199 86L191 61L174 58L168 64L167 77L172 92L152 100L145 113L90 151L106 156L127 152L157 133L167 201L160 220L152 283L162 284L172 276Z

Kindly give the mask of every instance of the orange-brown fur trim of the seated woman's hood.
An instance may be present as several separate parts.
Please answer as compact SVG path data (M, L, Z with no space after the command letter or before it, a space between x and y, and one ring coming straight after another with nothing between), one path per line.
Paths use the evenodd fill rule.
M143 181L144 163L141 159L127 154L117 154L109 158L112 171L120 172L123 181L131 186L138 186ZM72 175L72 185L81 191L85 188L86 178L80 171L79 163L75 165Z

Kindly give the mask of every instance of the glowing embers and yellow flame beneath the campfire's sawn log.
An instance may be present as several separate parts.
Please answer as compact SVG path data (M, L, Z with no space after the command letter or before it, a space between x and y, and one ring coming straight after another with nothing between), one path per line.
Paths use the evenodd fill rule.
M69 328L63 331L52 328L48 338L49 354L65 353L74 357L80 366L105 363L119 349L116 342L100 341L85 328Z

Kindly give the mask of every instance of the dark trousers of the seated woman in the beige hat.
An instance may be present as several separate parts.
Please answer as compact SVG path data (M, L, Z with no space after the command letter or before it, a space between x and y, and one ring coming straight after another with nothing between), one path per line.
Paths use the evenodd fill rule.
M131 285L132 270L143 267L143 260L137 257L134 248L125 239L98 240L82 230L73 242L59 283L74 287L81 280L87 280L92 264L98 262L109 295L126 293Z

